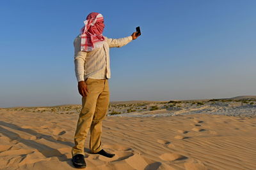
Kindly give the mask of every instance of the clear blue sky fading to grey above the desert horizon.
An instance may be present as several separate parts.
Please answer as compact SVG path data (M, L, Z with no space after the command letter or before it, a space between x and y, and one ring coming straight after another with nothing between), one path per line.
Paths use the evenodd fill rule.
M1 1L0 107L81 104L73 39L92 11L109 38L141 27L111 48L111 101L255 95L255 9L253 0Z

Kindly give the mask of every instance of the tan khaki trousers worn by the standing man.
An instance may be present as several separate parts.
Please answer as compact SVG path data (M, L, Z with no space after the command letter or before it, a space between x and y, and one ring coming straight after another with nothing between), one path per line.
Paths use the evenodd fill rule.
M72 157L79 153L84 155L84 142L89 129L91 152L96 153L102 149L102 120L106 117L109 106L108 79L87 78L85 81L89 92L82 98L82 110L77 121Z

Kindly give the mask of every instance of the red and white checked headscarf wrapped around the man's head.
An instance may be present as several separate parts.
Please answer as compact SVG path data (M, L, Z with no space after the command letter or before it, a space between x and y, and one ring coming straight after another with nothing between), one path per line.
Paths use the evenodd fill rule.
M100 13L92 12L84 20L84 27L81 29L81 51L90 52L103 45L104 19Z

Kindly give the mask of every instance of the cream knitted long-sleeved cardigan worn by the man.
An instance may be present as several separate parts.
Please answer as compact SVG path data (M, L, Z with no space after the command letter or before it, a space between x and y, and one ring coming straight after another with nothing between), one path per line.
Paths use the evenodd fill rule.
M132 36L118 39L107 38L106 36L104 38L103 45L91 52L80 50L80 36L74 39L74 63L77 82L84 81L86 78L110 78L109 48L121 47L132 41Z

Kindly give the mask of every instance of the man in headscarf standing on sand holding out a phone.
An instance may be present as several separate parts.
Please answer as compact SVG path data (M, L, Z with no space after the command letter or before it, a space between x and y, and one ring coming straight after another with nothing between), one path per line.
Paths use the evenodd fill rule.
M93 154L113 157L115 154L102 149L102 120L109 106L110 65L109 48L127 45L140 34L133 32L125 38L112 39L102 36L104 18L100 13L90 13L84 21L81 34L74 40L74 63L82 109L77 121L72 147L72 162L75 167L86 167L84 141L90 130L90 150Z

